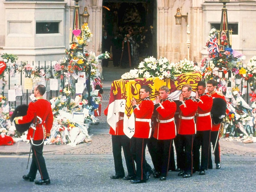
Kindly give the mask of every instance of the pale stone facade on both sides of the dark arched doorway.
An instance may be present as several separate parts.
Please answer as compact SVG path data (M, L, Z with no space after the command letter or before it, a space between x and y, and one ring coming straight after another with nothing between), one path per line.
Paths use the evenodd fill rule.
M96 55L101 52L103 0L79 1L80 13L88 7L89 27L93 33L88 49ZM13 53L19 60L49 61L64 56L69 45L69 28L73 23L75 1L4 1L0 0L0 53ZM188 23L182 19L175 25L177 8L183 15L188 12ZM190 60L199 62L207 54L205 43L211 23L220 23L222 4L204 0L155 0L153 21L154 49L159 58L178 61L188 57L187 24L191 42ZM231 1L227 4L228 21L238 23L238 34L232 36L232 48L243 52L249 59L256 54L256 3L254 1ZM37 21L59 22L59 33L36 34Z

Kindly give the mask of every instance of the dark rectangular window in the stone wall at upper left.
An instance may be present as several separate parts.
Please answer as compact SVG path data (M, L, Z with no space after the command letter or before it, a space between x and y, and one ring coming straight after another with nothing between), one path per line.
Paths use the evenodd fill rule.
M59 33L60 22L36 22L36 34Z

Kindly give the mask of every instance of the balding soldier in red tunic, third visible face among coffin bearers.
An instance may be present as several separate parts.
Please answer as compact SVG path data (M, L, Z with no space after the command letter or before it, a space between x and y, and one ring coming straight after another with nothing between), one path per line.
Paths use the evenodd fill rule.
M194 116L197 110L197 101L191 97L192 87L186 84L180 94L180 122L178 128L177 161L181 172L178 176L183 178L192 177L193 167L193 141L195 138L196 124Z

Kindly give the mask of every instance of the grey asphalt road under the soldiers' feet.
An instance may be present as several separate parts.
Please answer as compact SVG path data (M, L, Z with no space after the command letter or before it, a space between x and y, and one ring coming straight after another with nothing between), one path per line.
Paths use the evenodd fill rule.
M249 156L223 156L223 167L208 170L204 176L195 173L184 179L177 172L169 172L166 181L151 176L143 184L110 180L109 176L114 174L112 155L45 155L45 159L52 184L37 186L21 179L27 173L26 156L1 156L0 191L255 191L256 158Z

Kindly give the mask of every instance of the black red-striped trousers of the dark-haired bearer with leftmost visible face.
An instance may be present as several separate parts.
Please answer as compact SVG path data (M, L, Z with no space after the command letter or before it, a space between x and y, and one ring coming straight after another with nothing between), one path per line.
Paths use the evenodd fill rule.
M135 138L131 139L131 152L133 159L136 162L136 179L137 180L147 180L147 162L145 159L145 150L147 146L148 139Z

